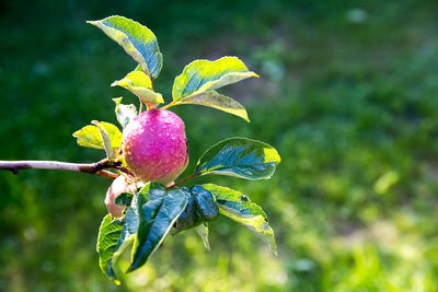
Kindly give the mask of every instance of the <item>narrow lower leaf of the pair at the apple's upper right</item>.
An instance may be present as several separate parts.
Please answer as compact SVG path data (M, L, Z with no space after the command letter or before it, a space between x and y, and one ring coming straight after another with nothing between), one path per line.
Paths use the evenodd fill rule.
M246 109L243 107L243 105L241 105L233 98L217 93L216 91L206 91L199 94L192 94L181 98L180 101L177 101L176 104L205 105L235 115L246 121L250 121L250 119L247 118Z

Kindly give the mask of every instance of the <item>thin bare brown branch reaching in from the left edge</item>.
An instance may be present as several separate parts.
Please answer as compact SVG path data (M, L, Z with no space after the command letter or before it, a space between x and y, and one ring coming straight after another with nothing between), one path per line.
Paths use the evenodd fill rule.
M122 167L122 163L108 161L107 159L95 163L68 163L59 161L0 161L0 170L11 171L13 174L19 174L19 170L58 170L81 172L100 175L106 178L116 178L118 175L105 171L106 168L114 168L132 175L128 170Z

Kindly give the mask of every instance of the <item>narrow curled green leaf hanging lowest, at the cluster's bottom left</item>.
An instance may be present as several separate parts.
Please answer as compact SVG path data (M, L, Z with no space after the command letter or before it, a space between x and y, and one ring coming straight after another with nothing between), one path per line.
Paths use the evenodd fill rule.
M104 217L97 236L99 266L102 271L113 279L117 284L117 278L113 270L113 256L122 235L123 223L114 220L111 214Z

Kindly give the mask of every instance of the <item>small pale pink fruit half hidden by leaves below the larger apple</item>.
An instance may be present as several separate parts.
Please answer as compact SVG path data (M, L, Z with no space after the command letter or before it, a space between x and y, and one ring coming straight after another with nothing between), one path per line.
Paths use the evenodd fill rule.
M111 184L108 191L106 191L105 205L108 209L108 213L113 217L122 217L126 206L118 206L115 203L115 199L124 192L134 194L136 191L136 185L128 182L123 175L118 176Z

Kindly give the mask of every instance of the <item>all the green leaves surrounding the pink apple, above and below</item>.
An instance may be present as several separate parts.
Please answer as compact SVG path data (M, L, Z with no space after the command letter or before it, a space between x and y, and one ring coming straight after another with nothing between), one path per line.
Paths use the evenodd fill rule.
M152 84L163 66L157 37L148 27L123 16L110 16L89 23L102 30L138 62L131 72L112 84L130 91L140 101L137 109L132 104L122 104L122 97L113 100L117 120L125 128L142 112L142 105L149 110L164 103L163 96L154 91ZM222 57L215 61L195 60L175 78L172 102L161 108L197 104L250 121L240 103L216 90L251 77L258 75L237 57ZM107 160L123 163L123 133L115 125L94 120L92 125L76 131L73 137L78 139L79 145L104 149ZM209 249L208 222L220 215L251 230L276 254L275 236L267 215L246 195L212 184L195 185L191 188L178 185L188 178L208 174L268 179L279 162L277 151L267 143L246 138L230 138L207 150L198 160L193 175L176 184L163 186L153 182L141 182L141 187L134 194L123 194L116 198L116 205L126 206L123 217L113 218L107 214L102 221L97 237L102 270L118 282L114 271L118 256L129 248L130 266L126 272L134 271L147 262L171 230L172 234L176 234L194 229ZM120 170L116 171L126 175Z

